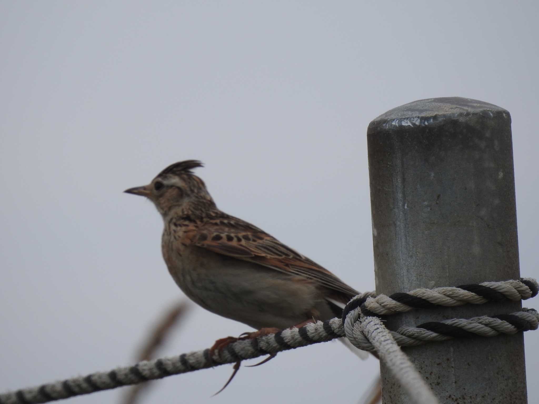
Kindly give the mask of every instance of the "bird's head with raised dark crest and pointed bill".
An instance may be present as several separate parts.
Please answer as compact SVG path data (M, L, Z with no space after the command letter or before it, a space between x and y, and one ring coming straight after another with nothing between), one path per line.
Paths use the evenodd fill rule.
M198 160L174 163L158 173L148 185L136 186L123 192L148 198L163 218L176 209L184 214L202 213L198 211L215 208L204 181L192 172L202 166Z

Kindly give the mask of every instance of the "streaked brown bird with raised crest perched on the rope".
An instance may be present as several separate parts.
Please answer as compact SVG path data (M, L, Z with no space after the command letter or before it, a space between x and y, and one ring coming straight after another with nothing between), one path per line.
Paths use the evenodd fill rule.
M358 291L262 229L219 210L193 171L201 167L198 160L177 162L148 185L124 191L148 198L161 214L163 259L184 294L258 330L243 338L340 317ZM217 340L212 353L236 339Z

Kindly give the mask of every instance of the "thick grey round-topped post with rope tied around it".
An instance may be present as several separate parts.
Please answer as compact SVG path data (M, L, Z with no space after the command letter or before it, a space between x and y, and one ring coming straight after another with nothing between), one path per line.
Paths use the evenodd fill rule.
M391 109L367 131L376 291L520 277L511 119L460 97ZM520 302L416 310L388 328L509 314ZM522 333L405 348L441 403L526 403ZM409 398L381 364L384 404Z

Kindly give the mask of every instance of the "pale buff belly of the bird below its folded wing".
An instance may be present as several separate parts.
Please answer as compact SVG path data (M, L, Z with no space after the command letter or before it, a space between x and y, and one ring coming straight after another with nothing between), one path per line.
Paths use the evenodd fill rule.
M313 283L277 270L191 246L163 257L182 291L206 310L255 329L285 329L313 316L333 317Z

